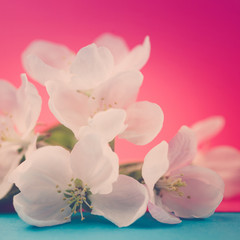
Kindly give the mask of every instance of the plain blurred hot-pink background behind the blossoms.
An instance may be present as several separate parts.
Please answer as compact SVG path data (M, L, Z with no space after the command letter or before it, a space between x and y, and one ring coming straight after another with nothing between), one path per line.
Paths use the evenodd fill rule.
M169 140L183 124L220 114L224 131L213 145L237 148L240 134L240 2L160 0L0 0L0 78L20 84L21 53L35 39L78 51L101 33L124 37L130 47L150 36L139 100L158 103L164 128L150 144L117 142L121 162L142 160L151 147ZM56 120L43 97L40 122Z

